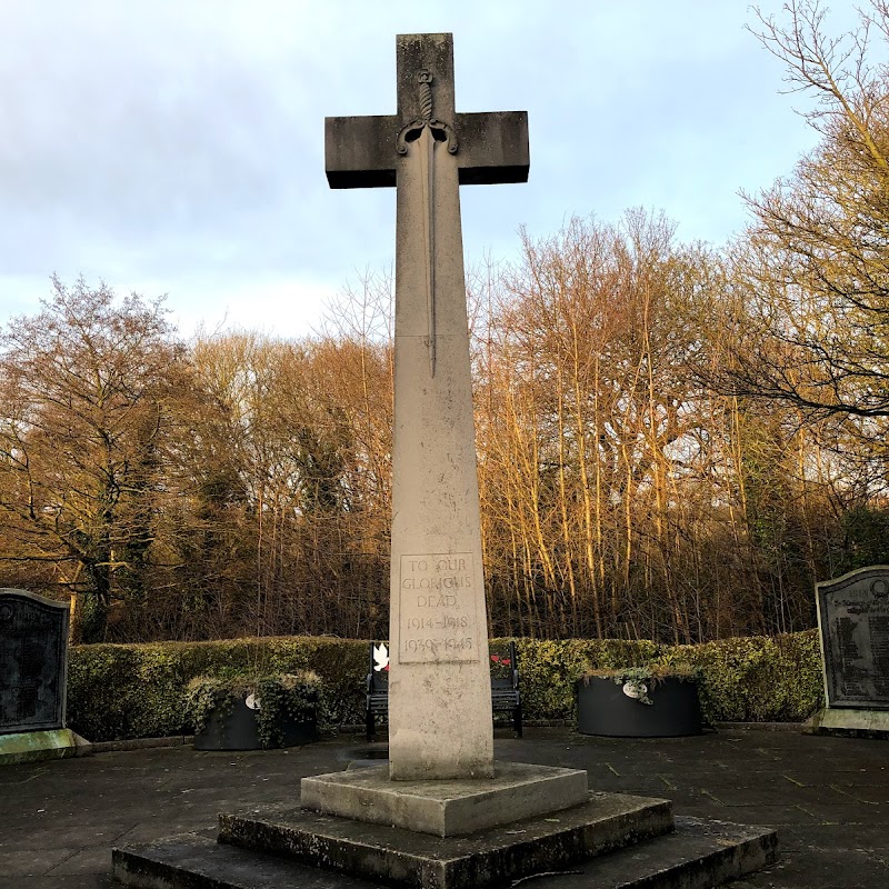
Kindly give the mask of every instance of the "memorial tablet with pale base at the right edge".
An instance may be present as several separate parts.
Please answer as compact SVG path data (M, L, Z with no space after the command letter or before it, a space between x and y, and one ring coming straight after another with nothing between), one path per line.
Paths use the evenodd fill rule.
M889 731L889 566L816 585L825 680L820 729Z

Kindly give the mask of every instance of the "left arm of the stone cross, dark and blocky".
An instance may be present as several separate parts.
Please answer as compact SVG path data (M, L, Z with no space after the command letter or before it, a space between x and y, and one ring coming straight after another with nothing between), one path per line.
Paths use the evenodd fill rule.
M324 170L330 188L396 184L394 114L324 118Z

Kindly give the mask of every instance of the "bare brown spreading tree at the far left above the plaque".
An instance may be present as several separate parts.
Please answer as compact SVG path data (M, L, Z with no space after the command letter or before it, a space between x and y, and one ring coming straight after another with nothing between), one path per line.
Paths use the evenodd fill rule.
M77 595L77 637L96 641L112 601L146 592L183 351L161 300L52 287L0 337L0 562L51 565Z

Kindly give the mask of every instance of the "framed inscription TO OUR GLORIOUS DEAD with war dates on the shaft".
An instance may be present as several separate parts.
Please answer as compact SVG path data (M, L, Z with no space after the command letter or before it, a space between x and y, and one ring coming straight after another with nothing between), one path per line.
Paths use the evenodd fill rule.
M479 659L471 552L401 557L399 663Z

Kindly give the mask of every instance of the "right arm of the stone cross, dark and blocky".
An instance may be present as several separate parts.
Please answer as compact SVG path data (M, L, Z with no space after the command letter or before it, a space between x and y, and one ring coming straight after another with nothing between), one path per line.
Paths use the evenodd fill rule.
M461 186L527 182L531 159L527 111L463 112L455 116Z

